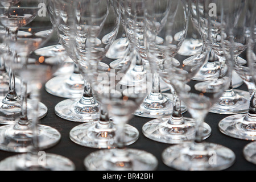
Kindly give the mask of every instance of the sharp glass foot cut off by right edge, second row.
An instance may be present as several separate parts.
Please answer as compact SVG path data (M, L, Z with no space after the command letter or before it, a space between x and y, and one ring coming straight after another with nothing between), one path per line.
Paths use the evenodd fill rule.
M218 123L220 131L229 137L255 140L256 139L256 121L250 121L246 114L230 115Z

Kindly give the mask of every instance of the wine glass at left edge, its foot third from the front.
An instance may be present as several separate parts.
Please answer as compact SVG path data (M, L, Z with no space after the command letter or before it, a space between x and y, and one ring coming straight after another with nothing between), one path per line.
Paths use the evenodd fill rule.
M6 30L6 36L14 40L18 36L19 28L26 26L27 23L30 23L31 20L35 18L33 14L34 9L30 9L30 14L24 15L23 11L21 11L20 7L18 7L18 4L16 3L19 3L19 1L3 1L0 5L1 25ZM9 49L6 49L6 51L10 51L10 53L13 54L13 59L18 59L15 51ZM5 59L3 60L5 61ZM20 97L25 98L27 96L27 91L26 93L23 92L22 96L18 96L15 86L15 73L11 67L8 67L7 69L9 69L9 90L6 96L3 97L0 102L0 123L2 125L13 124L18 121L20 113L23 112L23 110L20 108L23 100L20 100ZM24 84L20 82L20 85ZM20 94L21 93L22 92L20 91ZM30 100L25 102L27 102L26 104L28 106L27 117L28 119L31 119ZM39 118L43 118L47 114L48 109L42 102L40 102L39 106Z

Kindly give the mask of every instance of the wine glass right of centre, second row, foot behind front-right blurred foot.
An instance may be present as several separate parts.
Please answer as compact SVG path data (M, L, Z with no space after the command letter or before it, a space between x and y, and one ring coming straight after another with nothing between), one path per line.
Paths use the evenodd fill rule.
M179 66L182 57L177 58L179 61L174 61L172 58L177 54L180 45L185 39L188 26L188 13L186 3L184 1L148 1L145 7L146 10L146 28L145 28L145 44L148 60L153 62L152 68L157 68L164 65L168 61L172 61L173 65ZM164 14L164 18L160 19L160 15ZM160 21L162 20L162 26ZM171 26L172 25L172 26ZM163 39L162 44L155 42L155 37ZM173 40L171 40L173 39ZM164 55L162 48L167 48L166 44L170 42L168 56ZM157 52L154 52L154 51ZM163 55L163 56L162 56ZM184 62L193 60L204 60L203 53L186 57ZM154 64L156 62L156 64ZM157 72L156 69L155 72ZM164 77L163 77L164 78ZM164 81L171 86L169 80L164 78ZM174 89L173 89L174 90ZM174 90L173 93L176 91ZM152 140L163 143L184 143L191 142L195 136L195 121L191 118L184 118L180 113L180 100L174 97L174 110L171 117L157 118L145 123L142 127L143 134ZM207 123L204 123L204 139L209 137L211 129Z

